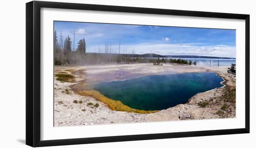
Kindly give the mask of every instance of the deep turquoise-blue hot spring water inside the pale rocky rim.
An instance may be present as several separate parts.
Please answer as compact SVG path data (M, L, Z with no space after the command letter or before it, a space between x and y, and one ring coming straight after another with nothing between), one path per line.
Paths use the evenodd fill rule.
M131 108L161 110L184 104L197 93L222 87L221 81L214 73L168 74L102 82L94 89Z

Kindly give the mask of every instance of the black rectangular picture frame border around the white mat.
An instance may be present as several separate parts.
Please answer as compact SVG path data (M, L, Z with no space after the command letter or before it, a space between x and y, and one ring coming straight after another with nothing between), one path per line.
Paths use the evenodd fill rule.
M191 17L245 20L245 128L177 132L146 135L122 135L61 140L40 140L40 8L95 10L124 13L148 13ZM249 133L249 15L199 11L168 10L142 7L120 7L78 3L31 1L26 3L26 144L32 147L86 143L136 141L164 138L229 135Z

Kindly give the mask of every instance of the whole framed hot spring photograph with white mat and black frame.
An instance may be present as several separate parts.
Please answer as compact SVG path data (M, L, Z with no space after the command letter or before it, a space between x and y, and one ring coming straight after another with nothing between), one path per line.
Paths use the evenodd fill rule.
M26 144L249 133L249 15L31 1Z

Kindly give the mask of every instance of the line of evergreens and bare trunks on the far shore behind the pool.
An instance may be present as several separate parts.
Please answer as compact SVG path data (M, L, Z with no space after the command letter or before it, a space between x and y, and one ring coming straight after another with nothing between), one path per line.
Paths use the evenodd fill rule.
M73 45L73 50L72 50ZM111 51L111 49L110 49ZM62 33L58 38L56 31L54 31L54 64L111 64L111 63L153 63L154 65L161 65L161 63L178 63L196 65L196 61L183 59L167 59L166 56L158 54L119 54L108 53L108 46L105 45L105 53L86 53L86 41L81 39L78 41L78 46L74 49L74 44L69 36L63 40Z

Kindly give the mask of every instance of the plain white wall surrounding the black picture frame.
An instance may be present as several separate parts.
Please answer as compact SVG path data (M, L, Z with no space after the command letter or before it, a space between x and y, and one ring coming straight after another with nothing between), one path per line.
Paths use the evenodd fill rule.
M28 148L25 145L25 3L29 0L5 0L0 5L0 148ZM205 137L129 141L54 148L132 148L255 147L256 4L254 0L52 0L88 4L154 7L180 10L250 14L250 123L251 133ZM67 133L68 134L68 133Z

